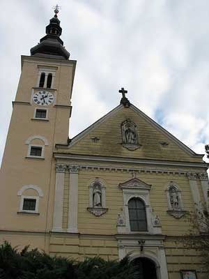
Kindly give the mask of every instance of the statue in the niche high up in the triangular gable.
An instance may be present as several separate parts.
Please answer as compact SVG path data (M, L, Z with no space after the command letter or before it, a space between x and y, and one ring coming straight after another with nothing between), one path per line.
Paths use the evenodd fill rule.
M136 127L136 124L130 121L130 119L125 120L121 124L123 146L129 150L135 150L141 146L138 143Z

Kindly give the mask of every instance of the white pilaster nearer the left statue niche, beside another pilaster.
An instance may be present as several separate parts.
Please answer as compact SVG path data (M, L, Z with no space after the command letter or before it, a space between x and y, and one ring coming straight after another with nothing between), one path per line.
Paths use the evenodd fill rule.
M78 210L78 166L70 166L69 186L69 208L68 208L68 229L67 232L78 232L77 210Z

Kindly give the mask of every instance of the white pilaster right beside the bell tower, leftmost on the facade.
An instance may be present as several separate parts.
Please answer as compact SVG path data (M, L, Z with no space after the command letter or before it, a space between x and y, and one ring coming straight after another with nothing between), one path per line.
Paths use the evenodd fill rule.
M54 195L54 219L53 232L62 232L63 230L63 194L65 181L66 165L56 164L56 186Z

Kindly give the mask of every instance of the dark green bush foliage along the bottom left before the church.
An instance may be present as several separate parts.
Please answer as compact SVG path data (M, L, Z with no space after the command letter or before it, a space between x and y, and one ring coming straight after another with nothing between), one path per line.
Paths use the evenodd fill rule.
M65 257L49 256L38 249L22 251L4 242L0 246L1 279L135 279L137 268L125 257L121 262L100 257L78 262Z

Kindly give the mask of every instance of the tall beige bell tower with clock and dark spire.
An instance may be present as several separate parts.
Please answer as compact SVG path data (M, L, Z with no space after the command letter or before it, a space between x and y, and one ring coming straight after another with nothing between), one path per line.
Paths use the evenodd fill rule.
M22 73L13 102L0 172L0 230L44 233L52 227L53 152L66 144L76 61L63 47L54 17L46 35L22 56ZM37 243L37 246L42 246Z

